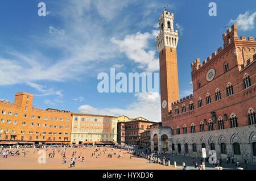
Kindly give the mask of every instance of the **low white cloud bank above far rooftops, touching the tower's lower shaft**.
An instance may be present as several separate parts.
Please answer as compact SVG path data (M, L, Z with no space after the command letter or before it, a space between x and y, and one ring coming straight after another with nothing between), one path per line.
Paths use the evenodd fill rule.
M83 113L93 113L100 115L129 117L142 116L150 121L161 121L160 95L157 92L147 92L134 94L137 101L130 103L126 108L96 108L88 104L79 107Z

